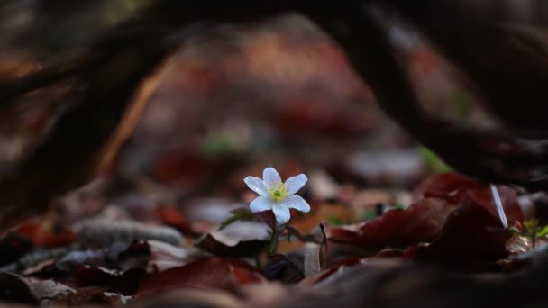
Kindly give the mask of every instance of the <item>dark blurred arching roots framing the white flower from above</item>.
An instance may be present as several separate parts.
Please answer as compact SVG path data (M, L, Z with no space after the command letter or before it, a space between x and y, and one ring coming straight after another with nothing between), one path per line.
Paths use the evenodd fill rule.
M62 29L70 28L71 23L64 17L73 15L73 10L84 10L88 17L96 17L106 3L110 4L44 1L40 3L34 27L46 29L60 19L57 30L65 32ZM93 8L88 10L87 5ZM73 82L69 95L59 97L69 102L68 110L13 172L6 172L0 180L3 209L0 225L13 224L29 213L43 211L55 197L86 183L96 163L105 163L97 160L98 156L123 124L123 115L132 109L132 98L143 80L188 38L219 24L253 23L288 12L306 15L332 35L347 52L353 68L371 86L380 106L453 167L488 181L535 189L546 187L546 145L516 140L507 130L477 131L443 122L420 108L415 89L393 55L387 33L376 23L368 5L388 5L415 24L470 77L485 104L507 128L542 139L548 132L545 120L548 104L542 103L548 84L548 54L546 41L539 32L494 23L493 16L470 12L470 7L449 0L337 3L247 0L238 5L235 10L235 5L227 2L155 1L108 28L87 46L68 71L45 68L30 77L0 81L0 91L5 91L0 93L5 99L2 104L41 87L67 79ZM493 18L504 19L506 13L499 11L507 12L506 8L495 5L498 7L495 14L503 16ZM42 33L53 38L58 34ZM46 50L49 47L55 50L62 44L46 39L45 46Z

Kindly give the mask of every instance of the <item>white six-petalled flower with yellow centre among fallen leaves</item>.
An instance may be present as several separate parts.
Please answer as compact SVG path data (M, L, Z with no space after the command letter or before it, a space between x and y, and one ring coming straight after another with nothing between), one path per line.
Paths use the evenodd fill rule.
M244 178L243 182L252 191L259 194L250 204L251 212L272 210L276 216L276 222L283 224L288 222L291 217L289 209L296 209L304 213L310 211L310 205L306 203L305 199L295 195L299 189L305 186L307 180L305 175L300 174L289 177L286 183L283 183L278 171L272 167L262 171L262 179L259 177Z

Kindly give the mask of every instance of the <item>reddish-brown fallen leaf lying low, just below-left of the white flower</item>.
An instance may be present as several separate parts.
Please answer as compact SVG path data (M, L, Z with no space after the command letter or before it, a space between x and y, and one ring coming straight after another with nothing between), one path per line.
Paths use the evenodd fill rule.
M233 288L265 281L260 271L238 259L203 258L147 276L135 296L148 296L177 288Z

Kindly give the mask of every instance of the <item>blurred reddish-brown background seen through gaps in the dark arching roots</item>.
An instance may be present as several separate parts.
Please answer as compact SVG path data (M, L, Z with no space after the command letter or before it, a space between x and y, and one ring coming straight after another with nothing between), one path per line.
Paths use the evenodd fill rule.
M150 4L2 1L0 77L74 57ZM539 29L548 16L543 1L463 5ZM397 18L386 18L386 29L430 113L494 123L420 33ZM384 116L342 50L300 15L218 27L181 45L166 69L116 159L114 175L148 177L184 198L240 189L242 177L269 164L288 175L321 171L361 188L409 188L430 172L448 169ZM1 110L0 163L14 161L55 119L63 102L50 100L48 91Z

